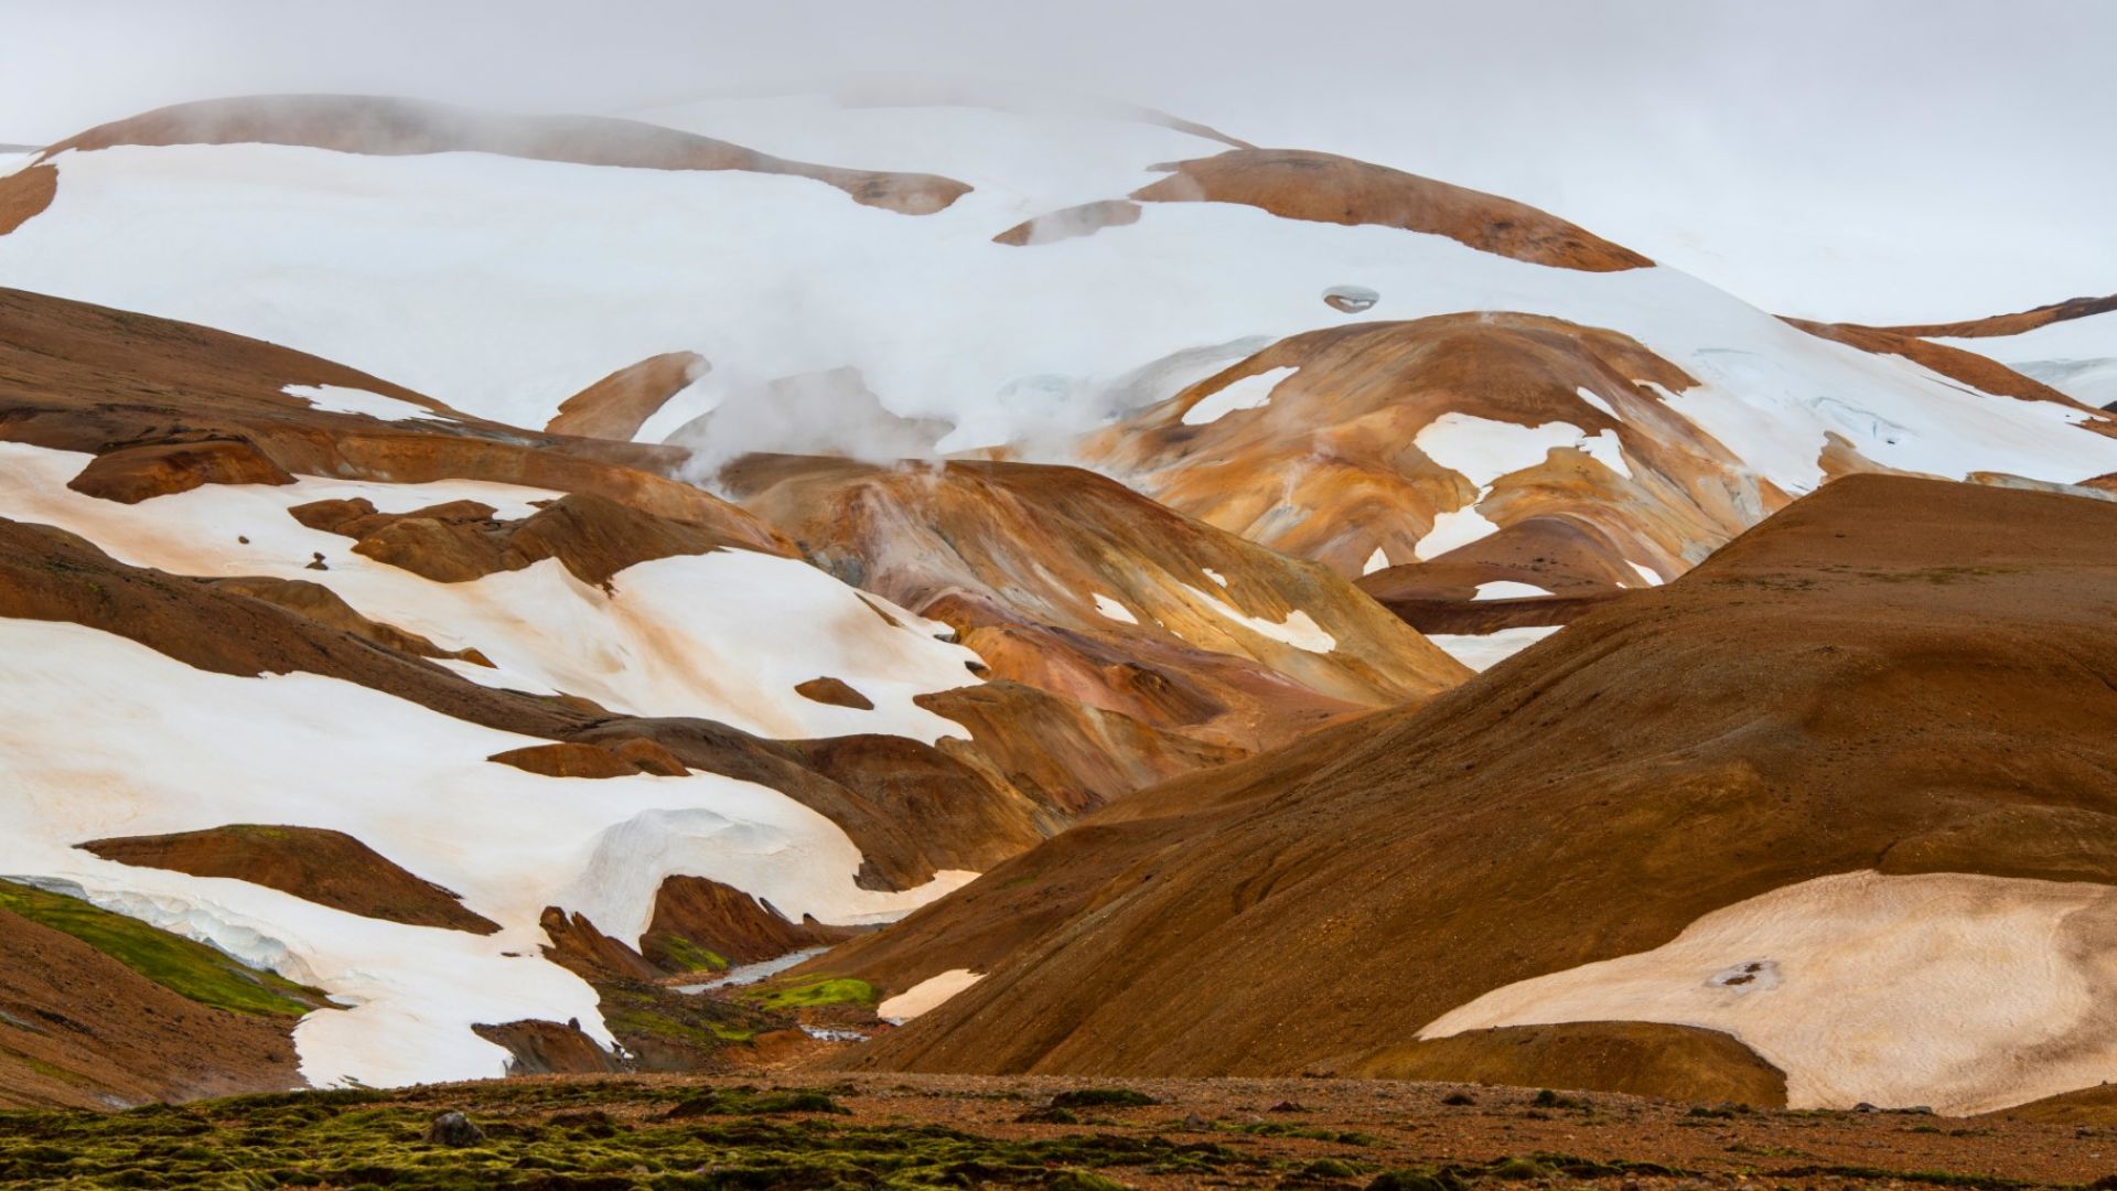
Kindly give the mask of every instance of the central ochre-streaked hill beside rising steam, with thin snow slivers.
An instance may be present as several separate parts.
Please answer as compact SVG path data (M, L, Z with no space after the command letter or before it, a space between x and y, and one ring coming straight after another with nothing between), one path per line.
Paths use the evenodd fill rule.
M752 456L745 509L826 570L953 625L995 678L1253 750L1463 670L1351 583L1099 475Z

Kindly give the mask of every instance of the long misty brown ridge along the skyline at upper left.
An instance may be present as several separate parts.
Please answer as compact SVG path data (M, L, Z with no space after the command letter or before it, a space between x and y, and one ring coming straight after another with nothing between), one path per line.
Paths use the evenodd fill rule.
M116 144L307 144L383 157L497 153L629 170L743 170L815 178L855 203L934 214L970 193L936 174L881 174L785 161L754 148L608 117L517 117L383 95L243 95L176 104L61 140L44 150Z

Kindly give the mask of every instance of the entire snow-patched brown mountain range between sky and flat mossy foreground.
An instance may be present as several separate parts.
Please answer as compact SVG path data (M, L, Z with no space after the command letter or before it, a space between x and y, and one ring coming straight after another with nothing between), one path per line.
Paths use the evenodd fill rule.
M184 104L0 282L4 1102L735 1062L669 988L826 945L874 1066L2094 1083L2094 303L889 87Z

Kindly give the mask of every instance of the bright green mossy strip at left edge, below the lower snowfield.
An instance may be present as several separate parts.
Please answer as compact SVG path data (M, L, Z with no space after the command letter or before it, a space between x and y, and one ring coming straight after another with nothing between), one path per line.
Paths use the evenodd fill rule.
M301 1017L324 994L146 922L97 909L76 896L0 882L0 909L72 935L146 979L199 1005L235 1013Z

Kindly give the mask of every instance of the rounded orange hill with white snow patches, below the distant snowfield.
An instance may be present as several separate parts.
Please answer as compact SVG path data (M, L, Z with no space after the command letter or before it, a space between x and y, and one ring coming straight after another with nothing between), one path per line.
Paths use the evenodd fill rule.
M1694 384L1556 318L1359 322L1283 339L1080 451L1346 576L1478 551L1526 564L1524 583L1636 587L1639 566L1681 572L1787 500L1662 398Z

